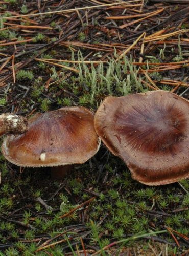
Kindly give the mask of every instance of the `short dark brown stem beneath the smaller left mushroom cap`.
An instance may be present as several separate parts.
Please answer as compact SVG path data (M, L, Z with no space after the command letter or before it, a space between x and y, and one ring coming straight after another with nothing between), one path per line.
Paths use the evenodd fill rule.
M55 180L62 180L70 173L72 168L73 164L51 167L51 178Z

